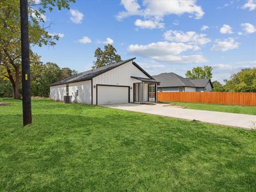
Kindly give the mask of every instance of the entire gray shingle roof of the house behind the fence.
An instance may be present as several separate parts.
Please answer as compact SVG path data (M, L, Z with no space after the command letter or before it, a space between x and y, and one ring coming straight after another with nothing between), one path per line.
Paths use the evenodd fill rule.
M205 87L209 81L211 83L211 79L187 79L173 72L163 73L153 77L161 82L158 87L189 86L199 88Z

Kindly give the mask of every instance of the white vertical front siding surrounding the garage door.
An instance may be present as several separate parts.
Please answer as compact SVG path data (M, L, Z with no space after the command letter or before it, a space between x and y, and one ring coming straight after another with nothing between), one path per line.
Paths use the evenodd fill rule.
M133 83L141 83L131 76L148 78L140 69L132 64L132 61L113 68L104 74L93 78L93 104L96 104L96 84L123 85L130 86L133 89ZM133 90L130 89L130 102L133 102Z

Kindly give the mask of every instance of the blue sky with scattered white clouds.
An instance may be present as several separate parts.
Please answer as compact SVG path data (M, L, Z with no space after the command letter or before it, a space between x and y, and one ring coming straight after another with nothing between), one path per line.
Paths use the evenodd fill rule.
M77 0L70 8L45 13L61 38L33 47L42 61L82 72L95 49L111 43L152 75L210 65L222 82L256 66L256 0Z

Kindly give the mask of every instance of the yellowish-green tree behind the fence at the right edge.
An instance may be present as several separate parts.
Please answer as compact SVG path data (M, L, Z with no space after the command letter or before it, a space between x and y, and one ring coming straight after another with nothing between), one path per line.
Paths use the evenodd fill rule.
M232 74L224 88L227 92L256 92L256 67L243 68Z

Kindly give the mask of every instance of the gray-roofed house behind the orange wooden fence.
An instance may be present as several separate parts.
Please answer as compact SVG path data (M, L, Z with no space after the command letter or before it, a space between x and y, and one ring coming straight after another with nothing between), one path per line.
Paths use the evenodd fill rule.
M211 92L211 79L187 79L173 72L153 76L161 82L157 92Z

